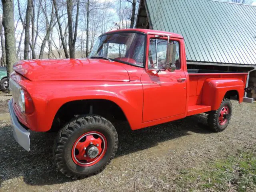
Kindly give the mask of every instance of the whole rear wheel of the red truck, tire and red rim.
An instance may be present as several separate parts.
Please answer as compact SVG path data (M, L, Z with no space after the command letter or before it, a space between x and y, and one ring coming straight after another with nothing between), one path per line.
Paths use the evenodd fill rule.
M232 103L224 98L218 110L210 111L208 115L208 125L214 132L221 132L229 124L232 115Z

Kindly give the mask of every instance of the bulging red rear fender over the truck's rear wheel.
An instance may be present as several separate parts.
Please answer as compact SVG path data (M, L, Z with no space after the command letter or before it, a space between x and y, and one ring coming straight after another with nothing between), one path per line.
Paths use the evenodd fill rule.
M212 106L217 110L226 94L230 90L236 90L239 102L242 102L244 95L244 82L238 78L209 78L203 86L202 104Z

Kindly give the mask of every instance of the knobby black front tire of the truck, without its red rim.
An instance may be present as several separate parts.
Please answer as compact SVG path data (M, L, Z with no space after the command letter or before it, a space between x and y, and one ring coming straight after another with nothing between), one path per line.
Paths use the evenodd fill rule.
M106 153L98 163L82 167L72 160L72 146L78 137L90 131L100 132L106 137ZM98 115L83 115L72 119L58 132L53 146L53 158L60 172L67 177L76 179L98 174L104 170L114 158L117 147L118 134L108 120Z

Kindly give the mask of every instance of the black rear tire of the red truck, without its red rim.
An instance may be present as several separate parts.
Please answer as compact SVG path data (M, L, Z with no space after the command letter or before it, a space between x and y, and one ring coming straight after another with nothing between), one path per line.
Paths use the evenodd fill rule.
M220 125L220 123L219 123L220 110L222 110L222 108L224 106L228 107L229 116L227 118L226 123L224 125ZM208 126L214 132L221 132L221 131L225 130L226 127L228 126L228 124L230 122L231 115L232 115L232 103L230 102L230 100L228 98L224 98L222 100L218 110L214 110L214 111L209 112L209 114L208 114Z

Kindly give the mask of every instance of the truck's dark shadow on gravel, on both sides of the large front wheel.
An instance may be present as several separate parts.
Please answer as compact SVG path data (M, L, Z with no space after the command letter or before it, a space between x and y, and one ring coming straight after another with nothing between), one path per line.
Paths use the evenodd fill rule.
M144 150L159 142L190 135L210 134L206 127L206 116L199 114L182 120L132 131L128 123L114 123L117 128L119 146L116 157ZM72 182L56 171L52 160L52 145L56 133L31 133L30 152L22 149L14 140L10 127L0 128L0 186L4 180L23 176L30 185L51 185Z

